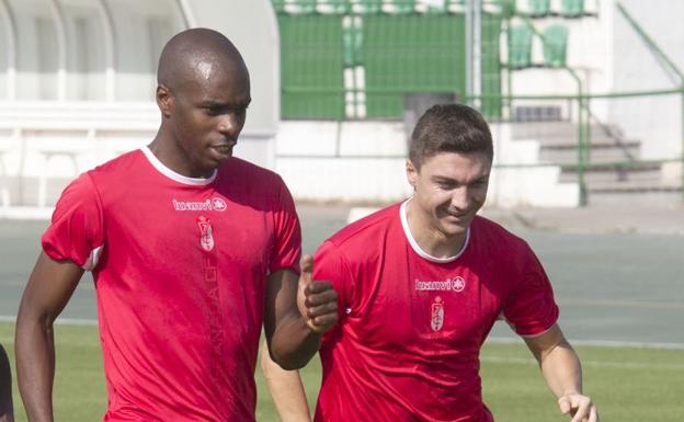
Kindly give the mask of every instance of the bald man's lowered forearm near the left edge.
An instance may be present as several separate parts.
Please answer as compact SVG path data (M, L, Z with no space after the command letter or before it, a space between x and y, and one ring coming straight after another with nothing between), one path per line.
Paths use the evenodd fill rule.
M16 321L16 381L30 422L53 422L55 341L52 323Z

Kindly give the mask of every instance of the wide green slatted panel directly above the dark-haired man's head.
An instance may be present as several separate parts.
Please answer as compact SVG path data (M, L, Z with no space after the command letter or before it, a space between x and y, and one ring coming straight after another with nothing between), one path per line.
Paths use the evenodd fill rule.
M401 117L404 93L465 92L463 15L366 16L363 33L367 117Z

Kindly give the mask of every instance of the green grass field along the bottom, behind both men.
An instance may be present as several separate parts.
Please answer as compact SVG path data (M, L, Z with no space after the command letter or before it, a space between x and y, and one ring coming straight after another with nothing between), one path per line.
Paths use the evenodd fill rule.
M0 343L12 361L13 329L11 323L0 323ZM101 420L106 397L96 329L57 326L56 339L56 420ZM598 403L603 421L684 421L684 351L577 349L584 365L585 391ZM569 421L558 413L556 401L524 345L486 345L481 374L485 400L498 422ZM320 383L318 360L303 369L303 376L312 401ZM278 421L259 370L256 383L256 419ZM14 403L16 421L26 421L15 386Z

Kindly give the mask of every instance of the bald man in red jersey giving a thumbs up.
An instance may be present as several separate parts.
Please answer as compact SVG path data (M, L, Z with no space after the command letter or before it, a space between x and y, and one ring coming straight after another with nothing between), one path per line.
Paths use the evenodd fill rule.
M92 271L104 421L254 421L254 367L305 365L337 321L329 283L299 263L278 175L232 157L250 79L221 34L175 35L159 60L155 139L75 180L59 198L16 322L29 420L53 420L53 322ZM301 275L299 275L301 274Z

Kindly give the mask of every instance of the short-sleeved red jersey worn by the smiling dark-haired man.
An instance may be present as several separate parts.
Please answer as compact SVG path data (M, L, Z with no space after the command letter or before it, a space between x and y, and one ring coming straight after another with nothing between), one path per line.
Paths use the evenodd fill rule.
M340 322L320 351L317 422L490 422L479 352L503 317L521 335L558 318L549 281L521 239L476 217L461 252L422 251L406 202L327 240L315 280L340 296Z

